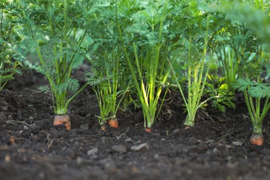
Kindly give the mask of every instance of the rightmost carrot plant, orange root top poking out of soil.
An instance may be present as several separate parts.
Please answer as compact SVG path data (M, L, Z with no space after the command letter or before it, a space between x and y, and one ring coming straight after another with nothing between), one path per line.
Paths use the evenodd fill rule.
M237 80L234 84L236 89L244 93L246 107L253 125L251 143L255 145L262 145L263 143L262 121L270 109L270 87L269 84L262 83L263 79L261 78L262 67L267 60L264 58L266 57L264 57L260 48L260 52L251 56L249 62L244 64L244 78ZM264 98L265 100L262 101ZM259 137L260 141L257 141L256 139Z

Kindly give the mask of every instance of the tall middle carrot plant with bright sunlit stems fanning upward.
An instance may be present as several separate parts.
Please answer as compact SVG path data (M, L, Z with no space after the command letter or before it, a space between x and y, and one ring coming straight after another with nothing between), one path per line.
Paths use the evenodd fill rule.
M159 113L157 105L170 70L166 66L168 44L163 40L167 8L168 1L120 1L119 4L116 1L119 40L141 102L147 132ZM123 24L123 19L132 19L132 25ZM127 37L132 39L131 46L125 42ZM162 102L163 99L161 105Z

